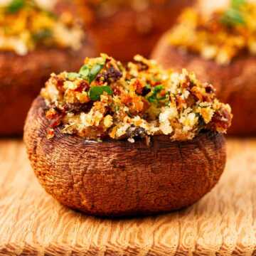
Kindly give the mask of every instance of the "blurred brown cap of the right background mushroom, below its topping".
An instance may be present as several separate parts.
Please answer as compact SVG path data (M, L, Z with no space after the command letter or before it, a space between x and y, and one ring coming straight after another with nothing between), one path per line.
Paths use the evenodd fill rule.
M199 80L212 83L219 100L232 108L234 118L228 134L256 134L256 57L242 55L229 65L218 65L200 55L181 53L169 45L167 36L161 38L151 57L164 68L186 68L195 72Z

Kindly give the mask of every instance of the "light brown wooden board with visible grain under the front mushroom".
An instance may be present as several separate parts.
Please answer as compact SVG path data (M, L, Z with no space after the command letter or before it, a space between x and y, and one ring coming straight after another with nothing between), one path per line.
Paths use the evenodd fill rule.
M195 206L148 218L101 219L39 186L23 142L0 142L0 255L256 256L256 139L229 139L225 174Z

